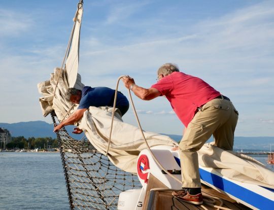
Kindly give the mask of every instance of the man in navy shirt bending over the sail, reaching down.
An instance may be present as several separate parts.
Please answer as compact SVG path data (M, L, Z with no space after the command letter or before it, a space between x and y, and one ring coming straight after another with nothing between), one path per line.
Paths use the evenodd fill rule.
M73 125L75 122L79 121L83 115L84 112L89 107L113 107L114 104L114 96L115 96L115 90L107 87L88 87L85 86L83 90L78 90L76 88L68 88L65 98L73 103L79 104L78 109L66 120L61 122L59 125L54 127L54 132L57 130L60 130L65 125ZM116 108L121 113L121 116L123 116L128 108L129 108L129 102L127 98L118 91L117 94L117 100L116 100ZM74 128L73 133L79 134L83 131L79 128Z

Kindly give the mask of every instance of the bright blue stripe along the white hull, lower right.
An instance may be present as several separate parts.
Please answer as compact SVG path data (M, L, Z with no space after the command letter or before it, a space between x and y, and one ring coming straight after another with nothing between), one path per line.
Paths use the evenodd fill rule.
M223 179L222 177L217 176L209 171L199 168L200 178L219 188L222 191L229 193L230 195L243 200L250 205L259 208L259 209L273 209L274 201L263 197L251 190L248 190L242 186L239 186L233 182ZM272 193L269 191L269 193Z

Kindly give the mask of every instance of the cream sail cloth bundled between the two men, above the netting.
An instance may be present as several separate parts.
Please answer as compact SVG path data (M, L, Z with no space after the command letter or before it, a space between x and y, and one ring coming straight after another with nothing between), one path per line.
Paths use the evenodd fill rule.
M85 130L90 143L101 153L108 148L112 121L112 110L109 107L90 107L79 123L79 128ZM177 146L169 136L153 132L144 132L150 147L158 145ZM136 165L139 153L147 149L139 127L124 123L119 114L113 121L113 131L108 157L111 162L124 171L137 173Z

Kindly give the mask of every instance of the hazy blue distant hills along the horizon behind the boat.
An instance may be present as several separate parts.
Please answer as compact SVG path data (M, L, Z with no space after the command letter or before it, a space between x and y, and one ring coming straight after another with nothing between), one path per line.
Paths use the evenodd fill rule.
M56 138L56 134L53 132L53 124L46 123L44 121L29 121L18 123L0 123L0 127L4 127L11 132L12 136L24 136L28 137L52 137ZM66 130L71 134L73 138L80 139L83 135L73 134L74 126L66 126ZM164 133L162 133L164 134ZM179 142L182 135L164 134L173 138ZM210 138L208 142L212 142L213 138ZM235 136L234 150L270 150L270 144L272 145L272 151L274 150L274 136L262 136L262 137L243 137Z

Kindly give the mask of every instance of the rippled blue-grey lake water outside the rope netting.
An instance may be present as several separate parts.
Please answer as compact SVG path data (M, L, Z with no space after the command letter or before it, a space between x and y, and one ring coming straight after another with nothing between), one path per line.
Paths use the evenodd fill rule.
M267 155L251 156L267 164ZM0 209L70 209L60 154L0 153Z

